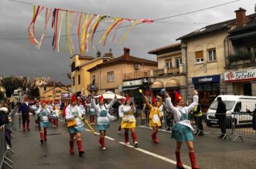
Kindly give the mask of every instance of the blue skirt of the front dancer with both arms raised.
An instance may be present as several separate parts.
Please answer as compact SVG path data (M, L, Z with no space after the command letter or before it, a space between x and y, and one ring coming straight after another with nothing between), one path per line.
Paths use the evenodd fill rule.
M194 140L192 130L180 123L176 123L172 127L171 138L174 138L176 141L180 142Z

